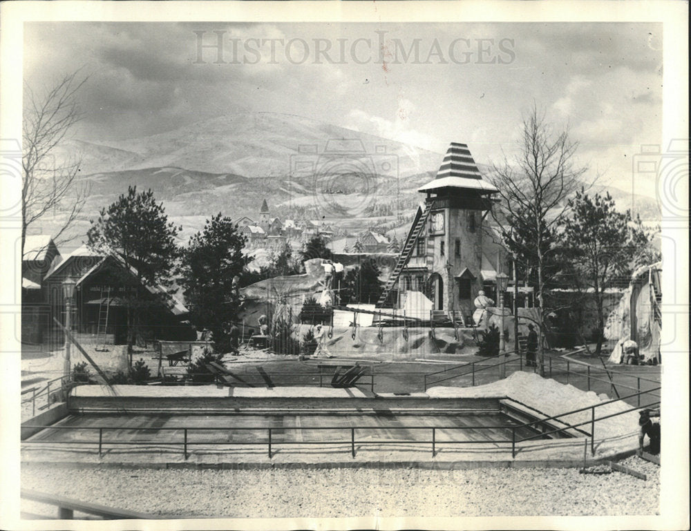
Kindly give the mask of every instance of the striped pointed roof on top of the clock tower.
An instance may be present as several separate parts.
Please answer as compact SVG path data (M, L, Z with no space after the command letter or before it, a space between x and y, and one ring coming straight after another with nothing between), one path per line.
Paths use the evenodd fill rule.
M498 192L495 186L482 180L482 174L467 144L458 142L451 142L448 146L435 180L428 182L417 191L432 192L444 188L477 190L481 193Z

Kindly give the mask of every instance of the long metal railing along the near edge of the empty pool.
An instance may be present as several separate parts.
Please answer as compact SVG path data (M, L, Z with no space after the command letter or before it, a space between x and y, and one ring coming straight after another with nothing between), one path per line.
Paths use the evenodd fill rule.
M659 391L661 389L660 387L657 387L656 389L649 389L647 391L641 392L639 394L649 394L654 391ZM103 447L104 445L164 445L164 446L182 446L182 452L184 454L184 458L187 459L189 456L188 448L190 446L195 446L195 445L205 445L205 446L231 446L231 445L266 445L267 446L267 452L269 458L272 458L274 455L273 449L276 447L276 445L349 445L350 446L350 453L352 455L352 458L355 457L356 452L355 452L355 446L356 444L361 446L361 445L392 445L392 444L429 444L431 445L432 449L432 454L433 456L437 452L437 445L439 443L444 443L444 445L459 445L459 444L502 444L502 443L508 443L509 439L508 436L507 438L502 438L502 439L491 439L491 438L482 438L481 440L457 440L457 439L445 439L444 441L438 441L437 440L437 432L440 430L443 430L444 432L446 431L462 431L462 430L487 430L487 429L494 429L494 430L510 430L511 432L511 457L515 458L516 455L516 444L517 443L522 443L524 441L531 441L535 438L550 438L550 435L553 434L566 434L567 436L570 436L568 431L573 430L573 429L578 429L580 426L585 426L585 425L590 425L590 432L583 432L582 429L578 429L579 432L583 432L586 436L586 438L590 438L590 443L591 443L591 452L592 454L595 454L595 439L596 439L596 434L595 434L595 426L597 421L603 421L607 418L612 418L614 416L619 416L622 414L626 414L629 412L636 411L637 409L641 409L641 407L631 407L629 409L625 409L625 411L621 412L616 412L613 414L605 415L596 418L595 415L595 410L598 409L598 407L603 407L605 405L609 405L615 402L620 402L625 400L625 398L631 398L634 395L626 396L624 398L618 398L614 400L607 400L606 402L598 403L596 405L588 406L588 407L581 407L580 409L574 409L569 412L565 413L560 413L558 415L553 415L545 418L538 418L536 421L531 421L527 423L522 423L518 425L496 425L496 426L419 426L419 425L413 425L413 426L389 426L389 427L379 427L379 426L317 426L317 427L224 427L224 426L216 426L216 427L137 427L133 428L131 426L124 427L124 426L100 426L100 427L95 427L95 426L86 426L86 427L79 427L79 426L27 426L30 428L41 428L41 429L54 429L54 430L81 430L81 431L97 431L98 432L98 454L99 456L102 456L103 453ZM659 401L650 403L645 405L644 407L651 407L654 405L659 405ZM581 421L578 423L571 423L565 421L565 417L573 414L577 414L580 412L584 412L590 410L591 411L591 418L589 418L586 421ZM558 421L560 424L563 424L563 427L555 427L551 429L550 431L545 431L544 426L545 423L549 423L549 421ZM542 427L542 429L540 429ZM257 431L264 431L266 430L266 437L262 438L261 441L256 441L256 440L250 440L250 441L190 441L189 440L189 435L193 434L195 432L257 432ZM431 435L430 439L419 439L419 438L404 438L404 439L379 439L379 440L372 440L372 439L357 439L355 437L355 432L359 431L377 431L377 430L386 430L386 431L399 431L399 430L405 430L405 431L410 431L410 432L428 432ZM535 432L534 435L532 436L526 436L523 438L516 438L516 432L519 430L529 430L530 432ZM180 432L182 431L182 441L104 441L104 432L121 432L121 431L126 431L126 432ZM304 432L313 432L313 431L318 431L318 432L324 432L324 431L336 431L336 432L350 432L350 438L348 439L343 439L343 440L334 440L332 438L329 438L328 441L276 441L274 438L274 435L276 434L276 431L280 432L286 432L286 431L294 431L294 432L299 432L301 435ZM34 441L23 441L23 445L45 445L45 444L57 444L57 445L91 445L91 444L96 444L95 441L74 441L74 440L69 440L69 441L41 441L41 440L34 440Z

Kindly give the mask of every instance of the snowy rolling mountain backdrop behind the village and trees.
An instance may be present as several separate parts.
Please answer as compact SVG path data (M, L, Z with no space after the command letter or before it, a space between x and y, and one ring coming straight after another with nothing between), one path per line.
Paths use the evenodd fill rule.
M182 240L218 212L256 220L263 199L271 215L323 220L337 229L337 237L375 227L395 230L400 239L423 198L417 188L433 179L444 158L443 153L275 113L225 115L118 142L73 140L60 156L75 154L82 159L79 185L88 189L82 217L70 231L75 246L86 238L89 220L128 186L152 189L169 218L182 224ZM481 171L489 169L476 162ZM622 209L630 208L630 193L609 192ZM635 200L642 217L659 216L656 202L644 196ZM57 211L34 231L53 233L60 221Z

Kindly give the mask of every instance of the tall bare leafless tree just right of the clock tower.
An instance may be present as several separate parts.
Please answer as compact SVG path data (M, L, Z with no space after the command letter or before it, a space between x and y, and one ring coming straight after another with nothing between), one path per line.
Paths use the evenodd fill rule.
M569 198L583 186L587 166L576 166L578 144L569 139L569 131L554 133L537 106L531 108L522 123L518 154L504 156L493 167L491 180L499 189L498 203L491 215L499 226L504 243L527 269L536 271L540 305L538 363L545 375L542 336L545 330L545 281L552 251L549 239L569 208ZM520 226L520 231L515 230Z

